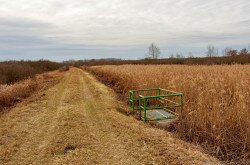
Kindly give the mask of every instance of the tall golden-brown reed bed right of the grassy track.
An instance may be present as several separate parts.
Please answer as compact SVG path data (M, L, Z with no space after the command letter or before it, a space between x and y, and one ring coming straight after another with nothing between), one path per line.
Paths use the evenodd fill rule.
M120 65L87 68L127 99L129 89L161 87L185 95L178 135L222 160L249 160L250 65Z

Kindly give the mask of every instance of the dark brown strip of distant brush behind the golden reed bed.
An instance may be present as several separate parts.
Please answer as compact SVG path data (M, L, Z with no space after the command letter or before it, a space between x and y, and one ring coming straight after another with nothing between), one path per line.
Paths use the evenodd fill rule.
M230 52L229 52L230 53ZM143 64L143 65L162 65L162 64L178 64L178 65L232 65L232 64L250 64L250 53L239 53L233 56L222 57L182 57L177 54L176 57L162 59L140 59L140 60L123 60L123 59L92 59L79 61L66 61L65 65L75 67L81 66L98 66L98 65L124 65L124 64Z

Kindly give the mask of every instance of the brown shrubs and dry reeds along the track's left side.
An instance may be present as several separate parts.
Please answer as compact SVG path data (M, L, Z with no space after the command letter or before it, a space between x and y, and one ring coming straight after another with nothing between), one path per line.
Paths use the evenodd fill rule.
M46 60L0 62L0 114L51 84L50 82L56 81L58 76L55 75L59 74L44 72L60 67L61 64ZM66 70L68 67L60 69L61 72Z

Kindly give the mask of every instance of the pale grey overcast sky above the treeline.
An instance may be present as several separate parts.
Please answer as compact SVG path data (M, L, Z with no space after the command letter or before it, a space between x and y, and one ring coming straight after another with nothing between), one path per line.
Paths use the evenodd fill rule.
M161 57L250 44L249 0L0 0L0 60Z

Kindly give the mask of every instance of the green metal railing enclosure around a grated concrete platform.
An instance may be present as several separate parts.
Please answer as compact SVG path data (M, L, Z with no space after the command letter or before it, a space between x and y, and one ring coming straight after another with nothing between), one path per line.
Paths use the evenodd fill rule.
M147 121L174 120L182 113L183 94L162 88L149 88L129 91L131 110Z

